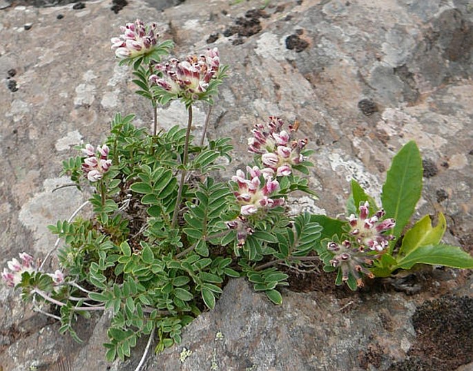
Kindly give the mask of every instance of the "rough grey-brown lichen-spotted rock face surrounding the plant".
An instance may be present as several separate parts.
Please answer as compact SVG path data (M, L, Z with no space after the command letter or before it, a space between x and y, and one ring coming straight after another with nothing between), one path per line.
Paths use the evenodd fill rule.
M110 10L118 3L124 8ZM473 250L470 1L271 1L264 10L257 0L125 3L0 3L1 266L21 251L44 256L55 243L46 225L84 201L70 187L52 192L68 182L57 176L73 146L101 142L116 111L151 127L151 110L110 50L110 37L137 17L157 21L177 55L218 46L231 65L209 133L233 137L223 175L249 160L255 122L298 120L316 150L311 183L320 196L299 203L336 216L347 180L378 197L392 156L414 139L425 165L419 213L444 211L448 242ZM195 109L197 132L205 109ZM184 122L178 104L160 113L163 127ZM305 292L284 291L274 307L231 281L182 345L148 359L146 370L472 370L470 274L423 269L357 294L323 282L295 278ZM93 326L79 321L77 345L57 323L24 312L3 285L0 298L0 370L134 370L139 362L146 339L126 363L104 361L107 315Z

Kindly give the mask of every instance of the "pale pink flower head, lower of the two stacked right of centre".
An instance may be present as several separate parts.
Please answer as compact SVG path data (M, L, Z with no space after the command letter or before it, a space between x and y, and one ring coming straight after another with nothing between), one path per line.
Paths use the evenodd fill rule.
M234 194L238 203L241 204L241 215L252 215L261 209L271 209L284 204L284 198L270 198L271 193L278 191L279 182L273 180L271 173L267 170L247 167L246 175L239 169L231 178L238 184L238 191Z

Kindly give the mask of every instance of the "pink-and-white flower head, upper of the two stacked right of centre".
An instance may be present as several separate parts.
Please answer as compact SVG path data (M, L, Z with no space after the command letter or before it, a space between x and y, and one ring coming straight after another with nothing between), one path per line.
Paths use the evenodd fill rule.
M284 122L279 117L270 116L269 123L255 124L249 138L249 151L261 156L264 166L272 169L276 176L290 175L292 166L307 160L301 154L307 144L307 139L291 140L296 128L289 125L289 133L282 130Z

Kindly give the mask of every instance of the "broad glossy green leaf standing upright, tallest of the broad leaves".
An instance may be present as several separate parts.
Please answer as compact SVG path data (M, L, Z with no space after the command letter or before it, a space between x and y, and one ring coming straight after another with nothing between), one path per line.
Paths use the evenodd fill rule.
M386 218L396 219L392 234L398 238L414 213L422 191L422 158L416 142L408 142L394 156L387 171L381 200Z

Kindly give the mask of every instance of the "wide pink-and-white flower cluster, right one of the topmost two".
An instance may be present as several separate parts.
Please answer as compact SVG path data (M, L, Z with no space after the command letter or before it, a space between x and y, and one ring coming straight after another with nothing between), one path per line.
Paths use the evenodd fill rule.
M217 76L219 67L218 48L213 48L199 57L189 55L184 61L172 58L157 64L155 68L162 76L151 75L149 80L178 97L198 99L198 95L206 92L211 79Z

